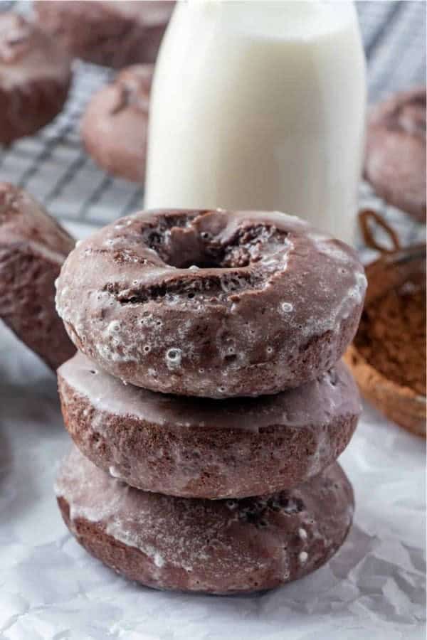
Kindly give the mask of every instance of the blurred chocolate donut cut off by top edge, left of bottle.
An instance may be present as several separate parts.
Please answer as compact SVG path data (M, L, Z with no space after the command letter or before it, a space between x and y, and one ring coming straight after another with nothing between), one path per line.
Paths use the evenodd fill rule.
M34 2L38 21L76 58L120 69L154 63L174 2Z

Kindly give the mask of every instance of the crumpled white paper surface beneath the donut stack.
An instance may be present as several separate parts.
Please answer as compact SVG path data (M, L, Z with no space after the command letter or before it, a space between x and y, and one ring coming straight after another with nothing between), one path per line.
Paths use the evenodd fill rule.
M354 526L320 570L209 597L127 582L80 548L53 495L70 439L56 380L0 326L1 640L415 640L425 637L422 439L366 409L340 461Z

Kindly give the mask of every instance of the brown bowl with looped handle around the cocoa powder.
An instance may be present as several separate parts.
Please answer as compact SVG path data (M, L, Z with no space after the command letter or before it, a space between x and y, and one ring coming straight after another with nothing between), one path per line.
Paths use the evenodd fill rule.
M401 287L405 282L419 282L426 286L426 245L401 248L394 233L389 233L393 249L377 245L367 230L369 220L388 230L384 220L373 212L363 212L360 222L367 244L381 251L378 260L366 267L368 289L365 305L384 296L390 289ZM359 389L379 411L406 430L426 437L426 395L420 395L405 385L390 380L371 366L357 348L357 337L344 356L352 369Z

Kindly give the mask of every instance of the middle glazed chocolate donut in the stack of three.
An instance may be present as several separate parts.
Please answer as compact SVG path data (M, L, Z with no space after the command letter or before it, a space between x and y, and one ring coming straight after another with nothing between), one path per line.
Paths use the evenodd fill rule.
M78 353L58 385L68 432L96 466L138 489L192 498L305 482L347 447L360 412L342 363L278 395L201 402L123 385Z

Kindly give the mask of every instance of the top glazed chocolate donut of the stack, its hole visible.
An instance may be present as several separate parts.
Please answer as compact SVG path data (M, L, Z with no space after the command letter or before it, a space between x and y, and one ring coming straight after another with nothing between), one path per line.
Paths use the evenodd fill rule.
M226 398L334 366L365 288L356 253L293 216L155 210L76 247L56 301L80 351L126 383Z

